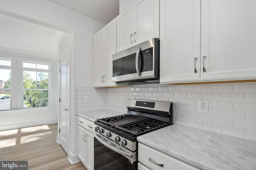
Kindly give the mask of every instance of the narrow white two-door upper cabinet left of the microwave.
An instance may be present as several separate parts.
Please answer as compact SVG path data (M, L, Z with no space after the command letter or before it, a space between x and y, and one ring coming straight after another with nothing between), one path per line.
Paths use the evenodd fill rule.
M116 53L116 18L94 35L94 87L117 86L112 82L112 55Z

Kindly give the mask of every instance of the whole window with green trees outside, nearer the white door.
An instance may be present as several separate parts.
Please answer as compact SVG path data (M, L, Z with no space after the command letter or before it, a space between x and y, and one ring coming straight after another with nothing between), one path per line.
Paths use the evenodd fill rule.
M23 108L48 107L49 64L23 62Z

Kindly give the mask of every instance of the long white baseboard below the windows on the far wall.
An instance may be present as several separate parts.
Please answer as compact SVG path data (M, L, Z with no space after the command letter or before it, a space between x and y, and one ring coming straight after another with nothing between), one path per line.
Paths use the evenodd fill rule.
M6 126L1 126L0 131L7 131L11 129L19 129L19 128L31 127L31 126L46 125L46 124L57 123L57 122L58 122L57 119L53 119L48 121L37 121L37 122L30 122L30 123L21 123L16 125L6 125Z

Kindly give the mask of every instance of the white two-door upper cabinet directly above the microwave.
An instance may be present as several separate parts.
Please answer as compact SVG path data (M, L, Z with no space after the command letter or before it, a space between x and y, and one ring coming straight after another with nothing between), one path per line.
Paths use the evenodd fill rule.
M138 0L117 16L117 52L159 38L159 0Z

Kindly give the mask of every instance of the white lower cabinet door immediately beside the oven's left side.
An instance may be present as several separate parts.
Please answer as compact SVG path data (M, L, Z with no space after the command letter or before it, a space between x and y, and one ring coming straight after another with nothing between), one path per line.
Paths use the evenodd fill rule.
M87 169L94 169L94 136L89 131L86 131L87 142Z

